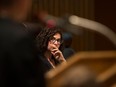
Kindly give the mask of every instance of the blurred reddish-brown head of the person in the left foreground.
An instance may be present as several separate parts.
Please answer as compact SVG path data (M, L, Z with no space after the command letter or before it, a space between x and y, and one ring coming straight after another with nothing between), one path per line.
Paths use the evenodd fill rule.
M25 20L32 0L0 0L0 17Z

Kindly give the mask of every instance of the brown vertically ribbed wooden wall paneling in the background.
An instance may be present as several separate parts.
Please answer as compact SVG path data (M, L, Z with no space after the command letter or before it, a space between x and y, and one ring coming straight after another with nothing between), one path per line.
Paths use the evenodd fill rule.
M37 11L45 10L56 17L74 14L94 19L94 0L36 0L33 6L36 6L34 9ZM83 35L75 36L73 39L72 47L75 51L94 49L93 33L90 31L83 30Z

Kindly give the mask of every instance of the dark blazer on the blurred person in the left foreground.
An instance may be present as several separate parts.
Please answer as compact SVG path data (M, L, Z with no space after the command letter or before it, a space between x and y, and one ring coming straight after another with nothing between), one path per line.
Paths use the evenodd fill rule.
M22 24L0 18L0 87L43 87L36 53L33 38Z

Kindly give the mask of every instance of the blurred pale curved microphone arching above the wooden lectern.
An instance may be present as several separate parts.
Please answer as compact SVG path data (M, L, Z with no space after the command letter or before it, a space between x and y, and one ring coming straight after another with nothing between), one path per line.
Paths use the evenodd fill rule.
M78 17L76 15L70 16L68 18L68 20L71 24L73 24L77 27L83 27L83 28L97 31L97 32L103 34L116 46L116 34L107 26L105 26L101 23L98 23L96 21ZM71 29L67 28L67 31L70 31L70 32L73 31L72 33L74 33L74 31L76 31L76 29L71 30Z

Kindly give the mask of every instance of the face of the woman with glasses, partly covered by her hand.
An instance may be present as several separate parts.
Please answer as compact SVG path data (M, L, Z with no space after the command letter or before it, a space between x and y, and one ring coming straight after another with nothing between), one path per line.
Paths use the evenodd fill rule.
M48 42L48 50L52 50L54 48L59 48L62 43L61 35L56 33Z

